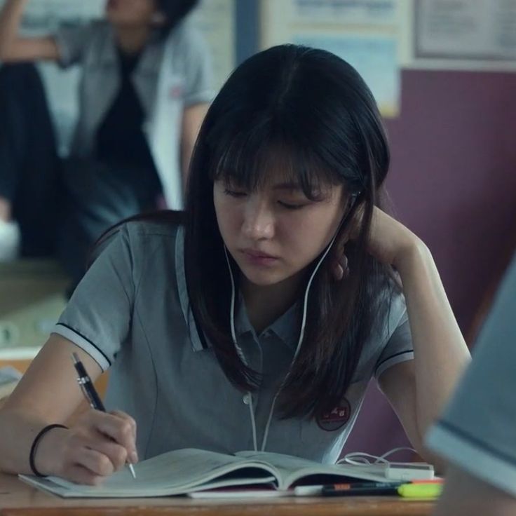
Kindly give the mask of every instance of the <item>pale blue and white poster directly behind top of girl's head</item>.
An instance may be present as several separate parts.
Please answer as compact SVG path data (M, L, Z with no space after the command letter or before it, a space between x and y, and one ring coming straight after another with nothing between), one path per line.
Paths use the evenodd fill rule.
M262 0L260 46L289 42L339 55L365 79L383 116L397 116L404 2Z

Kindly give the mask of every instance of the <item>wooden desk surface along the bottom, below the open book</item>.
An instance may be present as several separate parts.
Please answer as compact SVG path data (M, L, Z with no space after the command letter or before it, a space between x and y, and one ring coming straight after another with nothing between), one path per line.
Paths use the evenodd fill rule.
M0 473L0 516L429 516L432 505L391 496L245 501L182 497L67 500Z

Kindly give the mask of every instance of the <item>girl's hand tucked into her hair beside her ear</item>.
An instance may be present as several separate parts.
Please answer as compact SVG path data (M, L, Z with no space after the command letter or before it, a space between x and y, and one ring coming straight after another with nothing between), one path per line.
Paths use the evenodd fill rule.
M358 238L361 218L362 210L358 210L351 223L350 231L335 246L333 273L337 280L348 275L346 243ZM387 215L386 212L374 208L367 250L379 262L399 269L403 259L421 244L421 240L407 227Z

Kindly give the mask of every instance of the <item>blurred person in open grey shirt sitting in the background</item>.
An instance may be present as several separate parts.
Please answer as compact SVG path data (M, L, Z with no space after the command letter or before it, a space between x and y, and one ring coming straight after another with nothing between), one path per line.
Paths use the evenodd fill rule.
M80 278L86 249L109 226L155 210L160 197L182 208L184 175L212 100L208 49L182 22L196 3L109 0L105 20L27 39L17 35L27 0L6 2L0 60L11 65L0 70L0 259L16 254L15 222L23 255L51 254L59 226L62 260ZM12 64L34 60L82 67L72 160L61 173L41 81L32 64ZM157 143L162 113L165 154Z

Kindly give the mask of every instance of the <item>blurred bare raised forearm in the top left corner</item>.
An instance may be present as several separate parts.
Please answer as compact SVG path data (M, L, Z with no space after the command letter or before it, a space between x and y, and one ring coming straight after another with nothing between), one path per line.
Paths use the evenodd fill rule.
M52 36L22 38L18 29L28 0L7 0L0 11L0 61L57 60L59 53Z

